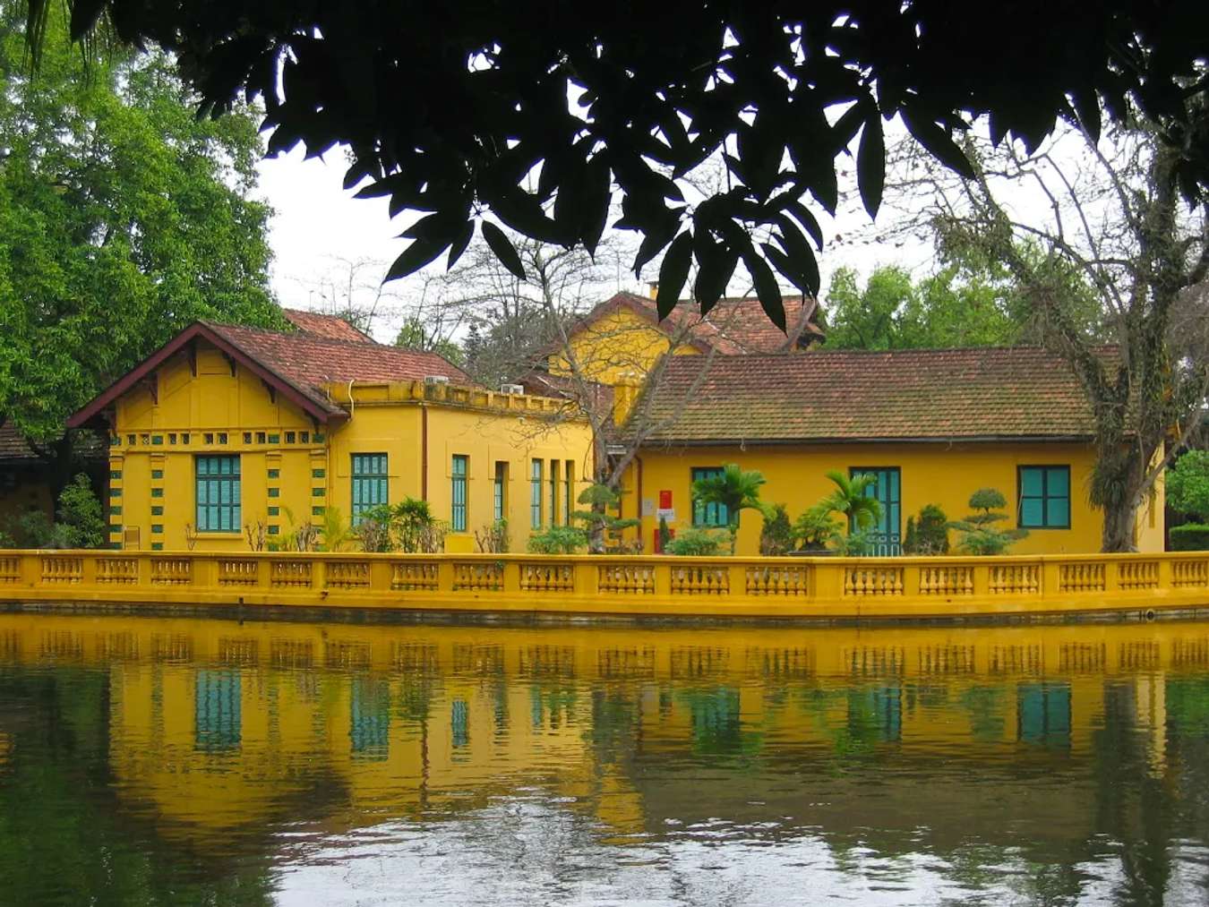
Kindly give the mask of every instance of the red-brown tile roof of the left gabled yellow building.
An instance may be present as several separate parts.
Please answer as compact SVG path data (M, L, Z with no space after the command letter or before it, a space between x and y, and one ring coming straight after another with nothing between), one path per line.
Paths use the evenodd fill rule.
M429 375L442 375L457 385L476 386L462 369L436 353L365 341L330 340L306 331L287 334L195 322L75 412L68 426L79 428L92 424L117 397L195 339L214 343L323 422L347 417L341 406L328 399L323 391L326 383L418 381Z

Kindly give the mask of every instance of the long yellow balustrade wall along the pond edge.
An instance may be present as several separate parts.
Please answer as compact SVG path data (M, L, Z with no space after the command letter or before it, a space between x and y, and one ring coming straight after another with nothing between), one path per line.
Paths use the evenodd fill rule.
M901 619L1209 607L1209 553L1016 558L6 551L0 601Z

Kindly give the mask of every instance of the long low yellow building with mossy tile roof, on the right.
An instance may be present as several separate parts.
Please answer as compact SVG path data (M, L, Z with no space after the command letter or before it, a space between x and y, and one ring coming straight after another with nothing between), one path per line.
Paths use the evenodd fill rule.
M925 504L961 519L982 487L1002 492L1011 525L1029 531L1013 554L1100 549L1092 414L1070 370L1041 349L676 357L644 393L624 515L642 516L647 550L660 515L673 531L727 525L725 508L689 491L725 463L763 473L760 498L791 519L834 487L826 472L874 474L879 554L901 553L907 518ZM758 553L760 526L758 513L741 516L740 554ZM1161 486L1136 543L1163 550Z

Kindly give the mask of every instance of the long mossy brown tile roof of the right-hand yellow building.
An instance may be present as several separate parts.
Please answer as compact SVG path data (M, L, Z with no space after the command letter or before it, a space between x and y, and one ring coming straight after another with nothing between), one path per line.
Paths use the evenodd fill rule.
M652 393L649 445L1088 438L1093 429L1074 374L1030 347L677 356Z

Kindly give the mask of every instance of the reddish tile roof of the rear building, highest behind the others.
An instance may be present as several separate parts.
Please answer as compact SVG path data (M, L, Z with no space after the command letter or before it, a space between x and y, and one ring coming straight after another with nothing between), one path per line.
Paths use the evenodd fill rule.
M688 339L694 346L701 349L712 347L724 356L779 353L809 346L811 341L823 337L822 329L815 323L818 312L816 299L785 296L783 301L787 334L782 334L768 319L759 300L753 296L721 299L704 318L695 302L681 300L666 320L660 322L653 299L634 293L618 293L585 314L580 323L591 324L597 318L624 307L661 327L665 333L687 327Z

